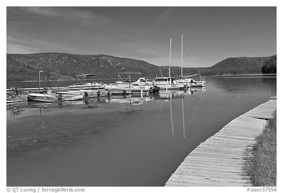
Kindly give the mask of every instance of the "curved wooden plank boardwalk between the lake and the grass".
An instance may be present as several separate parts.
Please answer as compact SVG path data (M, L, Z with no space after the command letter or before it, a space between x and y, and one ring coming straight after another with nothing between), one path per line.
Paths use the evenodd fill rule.
M243 171L243 157L251 155L249 146L272 117L276 102L276 97L271 97L200 143L165 186L252 186Z

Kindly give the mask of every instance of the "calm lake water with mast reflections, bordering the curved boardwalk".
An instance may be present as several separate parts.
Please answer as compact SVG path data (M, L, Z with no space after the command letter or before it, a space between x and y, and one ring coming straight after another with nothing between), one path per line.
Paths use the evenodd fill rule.
M276 80L7 106L7 186L164 186L199 143L275 96Z

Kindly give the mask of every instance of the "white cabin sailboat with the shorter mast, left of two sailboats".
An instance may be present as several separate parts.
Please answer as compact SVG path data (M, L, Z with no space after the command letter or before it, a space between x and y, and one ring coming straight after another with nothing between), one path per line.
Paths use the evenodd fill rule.
M183 89L185 84L178 83L174 80L174 77L171 77L170 73L170 65L171 65L171 42L172 38L170 38L170 61L169 61L169 77L158 77L156 78L152 84L154 86L159 87L160 89Z

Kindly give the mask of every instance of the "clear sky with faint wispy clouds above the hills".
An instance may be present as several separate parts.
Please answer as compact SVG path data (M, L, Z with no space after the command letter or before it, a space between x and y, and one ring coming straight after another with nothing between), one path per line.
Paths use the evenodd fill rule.
M6 7L6 53L113 55L209 67L227 57L277 54L277 8Z

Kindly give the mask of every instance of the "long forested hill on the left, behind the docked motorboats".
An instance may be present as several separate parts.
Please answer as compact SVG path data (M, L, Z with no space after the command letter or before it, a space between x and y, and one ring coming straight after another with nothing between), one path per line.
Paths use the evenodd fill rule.
M141 72L146 76L160 74L159 68L153 64L111 55L7 54L7 81L38 80L39 68L43 71L41 80L71 80L80 74L116 78L123 70Z

